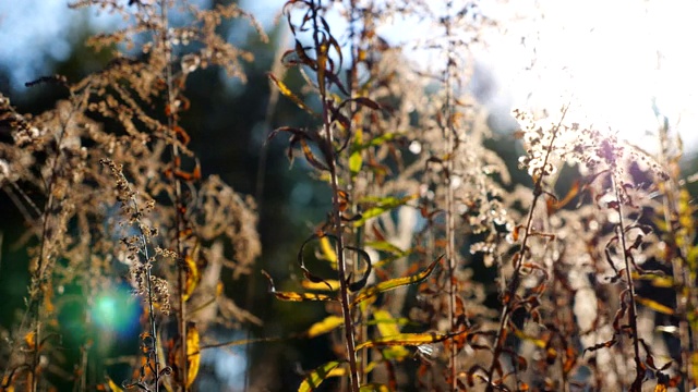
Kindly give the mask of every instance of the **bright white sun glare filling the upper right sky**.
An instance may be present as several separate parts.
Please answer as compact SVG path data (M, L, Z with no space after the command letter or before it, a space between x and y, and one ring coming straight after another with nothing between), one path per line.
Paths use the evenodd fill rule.
M488 2L485 2L488 3ZM657 113L698 148L698 2L538 0L483 4L502 21L489 53L514 107L557 110L655 150ZM496 4L496 5L493 5ZM507 22L508 21L508 22Z

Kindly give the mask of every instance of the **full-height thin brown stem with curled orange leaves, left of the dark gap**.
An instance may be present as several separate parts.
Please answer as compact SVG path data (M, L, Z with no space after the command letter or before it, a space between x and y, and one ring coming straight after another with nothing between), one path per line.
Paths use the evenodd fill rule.
M165 78L167 84L167 107L169 110L167 111L167 128L168 132L172 133L173 142L172 142L172 173L176 173L179 168L177 164L180 162L179 157L179 147L177 146L177 135L174 135L173 128L177 125L177 121L174 119L174 91L172 89L172 49L170 46L170 39L168 35L169 30L169 21L168 21L168 0L160 0L160 17L163 19L163 52L165 54ZM186 390L186 384L189 383L188 377L189 371L188 367L188 356L186 356L186 302L184 301L184 292L186 290L186 271L184 270L185 264L183 261L183 248L182 248L182 238L180 233L182 231L182 184L180 183L177 175L173 175L174 182L174 243L177 247L177 285L178 285L178 302L179 302L179 315L177 318L177 324L179 330L179 350L180 357L182 358L181 364L177 364L180 375L180 380L182 382L182 390Z

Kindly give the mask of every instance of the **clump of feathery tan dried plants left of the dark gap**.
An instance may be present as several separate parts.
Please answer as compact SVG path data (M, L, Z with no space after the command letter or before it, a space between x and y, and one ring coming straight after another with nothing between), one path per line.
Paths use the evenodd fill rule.
M104 70L74 83L57 76L31 84L65 87L68 97L55 109L22 115L2 98L2 121L12 133L1 147L2 186L38 238L37 245L27 243L33 256L27 308L3 355L2 389L47 390L56 375L70 375L72 364L53 351L60 345L56 336L64 332L58 316L74 301L62 293L76 291L84 298L89 330L103 322L92 319L91 308L124 281L144 310L142 358L133 358L136 370L123 388L189 390L198 371L200 333L220 323L257 321L230 306L218 308L231 299L225 297L221 268L208 265L212 246L229 244L229 254L210 261L234 279L250 272L261 246L254 204L218 177L202 177L179 119L189 108L186 78L196 69L220 65L244 78L241 61L251 61L251 54L227 44L216 27L224 19L254 20L236 5L198 10L171 1L107 0L71 7L96 7L129 24L88 41L112 50ZM174 9L191 25L170 26L168 12ZM209 270L216 275L207 277ZM190 303L205 306L207 316L186 311ZM105 388L104 358L92 357L97 355L92 345L105 342L96 338L81 343L83 358L69 378L76 390ZM120 380L109 382L121 389Z

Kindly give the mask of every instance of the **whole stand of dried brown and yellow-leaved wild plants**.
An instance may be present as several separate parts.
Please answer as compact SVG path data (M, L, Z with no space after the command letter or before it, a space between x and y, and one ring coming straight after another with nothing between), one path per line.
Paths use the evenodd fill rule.
M70 7L117 13L124 27L86 42L108 51L101 70L27 84L59 86L52 109L22 113L1 96L0 185L26 228L15 246L29 280L3 331L0 391L210 390L207 351L286 340L321 341L334 358L298 370L292 387L269 380L277 365L262 358L245 390L696 387L695 176L681 171L681 140L658 113L652 156L569 120L580 110L570 97L515 110L524 154L513 167L465 93L471 49L495 27L477 2L284 4L293 39L268 72L266 112L290 102L292 123L275 124L263 148L287 138L328 206L287 258L291 275L255 264L267 249L253 198L204 174L183 125L196 72L246 81L257 59L220 29L242 19L266 41L254 16L236 3ZM433 24L417 44L430 66L381 36L399 19ZM324 316L266 330L258 308L240 305L245 284ZM129 319L133 347L106 350Z

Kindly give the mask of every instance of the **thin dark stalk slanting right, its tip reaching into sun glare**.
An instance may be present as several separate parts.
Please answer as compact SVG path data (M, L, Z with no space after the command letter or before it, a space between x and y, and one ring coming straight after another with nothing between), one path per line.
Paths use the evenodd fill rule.
M535 206L540 200L541 195L543 194L543 177L544 170L547 167L549 161L551 160L551 155L553 151L553 146L555 145L555 139L557 138L557 134L559 132L559 127L565 120L565 115L567 114L567 109L569 106L566 106L563 109L562 115L557 125L555 125L553 136L551 137L550 144L545 149L545 158L543 159L543 163L541 166L540 173L538 177L534 179L533 184L533 200L531 201L531 207L528 211L528 218L526 219L526 231L524 232L524 238L521 240L521 247L519 252L514 255L514 274L512 275L512 280L507 285L506 291L504 292L504 307L502 308L502 314L500 316L500 328L497 330L497 336L493 346L492 354L492 364L490 365L490 370L488 370L488 388L486 392L491 392L494 389L494 370L497 368L497 362L500 360L500 356L504 350L504 340L507 333L507 324L509 322L509 317L512 316L512 307L514 305L516 298L516 292L521 282L521 266L524 265L524 258L526 257L526 249L528 249L528 241L532 235L533 228L533 212L535 211Z

